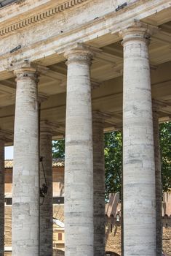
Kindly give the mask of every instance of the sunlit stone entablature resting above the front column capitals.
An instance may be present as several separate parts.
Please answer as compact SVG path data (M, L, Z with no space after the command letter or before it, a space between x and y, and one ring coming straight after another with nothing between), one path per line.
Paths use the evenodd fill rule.
M116 12L116 7L120 2L65 0L56 4L56 1L48 1L48 4L42 4L44 10L42 12L41 9L39 10L38 19L33 18L35 15L38 17L35 7L35 13L33 10L29 12L32 16L23 16L21 13L16 16L17 23L16 17L9 18L5 22L1 21L0 72L4 72L4 74L1 74L0 79L3 80L11 76L6 73L6 69L15 61L28 59L29 61L39 61L44 66L63 61L63 50L75 42L84 42L96 48L117 42L121 39L118 32L122 26L135 19L144 22L146 19L148 22L153 20L151 22L153 25L155 22L160 25L164 11L164 21L171 20L170 1L128 1L124 9ZM50 7L49 4L51 4ZM54 8L57 8L58 11L55 12ZM59 9L61 10L59 11ZM30 22L29 19L32 21ZM8 28L11 29L4 26L5 23L8 24L8 21ZM12 27L15 28L13 31Z

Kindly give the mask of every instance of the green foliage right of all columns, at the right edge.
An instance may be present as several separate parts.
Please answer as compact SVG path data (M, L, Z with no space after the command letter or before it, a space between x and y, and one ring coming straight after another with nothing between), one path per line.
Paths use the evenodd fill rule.
M171 122L160 124L163 190L171 189Z

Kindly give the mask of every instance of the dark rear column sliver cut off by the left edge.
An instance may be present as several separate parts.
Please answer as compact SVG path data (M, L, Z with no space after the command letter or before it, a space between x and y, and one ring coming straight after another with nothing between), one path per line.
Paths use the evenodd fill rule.
M0 135L0 255L4 256L4 136Z

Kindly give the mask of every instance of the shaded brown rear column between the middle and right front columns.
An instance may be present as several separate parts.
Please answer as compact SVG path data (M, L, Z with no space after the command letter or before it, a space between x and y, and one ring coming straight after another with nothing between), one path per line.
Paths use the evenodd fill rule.
M94 183L94 256L104 256L106 246L104 116L92 113Z

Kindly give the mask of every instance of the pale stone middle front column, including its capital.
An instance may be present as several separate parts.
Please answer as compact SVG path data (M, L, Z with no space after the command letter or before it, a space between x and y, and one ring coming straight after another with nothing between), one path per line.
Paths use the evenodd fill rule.
M93 255L92 53L68 50L65 127L65 256Z

